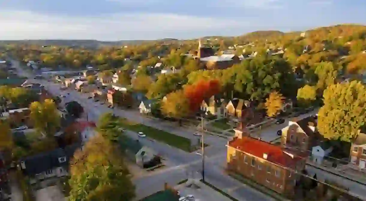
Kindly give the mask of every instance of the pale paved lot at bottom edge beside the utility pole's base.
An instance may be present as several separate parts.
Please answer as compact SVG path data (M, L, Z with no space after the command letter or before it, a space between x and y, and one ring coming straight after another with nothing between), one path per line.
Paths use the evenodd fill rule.
M199 186L199 189L187 187L186 183L176 186L175 189L179 191L182 197L187 197L188 195L193 196L193 198L187 198L187 201L231 201L229 198L200 181L195 180L195 184Z

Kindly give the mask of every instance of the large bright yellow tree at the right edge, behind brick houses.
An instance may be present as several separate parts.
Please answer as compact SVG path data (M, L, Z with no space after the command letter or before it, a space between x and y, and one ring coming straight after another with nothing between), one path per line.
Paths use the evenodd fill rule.
M352 141L366 121L366 88L361 82L332 84L323 94L318 130L326 139Z

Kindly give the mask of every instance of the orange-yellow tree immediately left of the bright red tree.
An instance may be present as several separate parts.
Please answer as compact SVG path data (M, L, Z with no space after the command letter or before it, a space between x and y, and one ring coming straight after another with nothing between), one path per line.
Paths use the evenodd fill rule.
M161 112L168 117L181 120L190 114L189 102L183 90L169 93L167 100L161 103Z

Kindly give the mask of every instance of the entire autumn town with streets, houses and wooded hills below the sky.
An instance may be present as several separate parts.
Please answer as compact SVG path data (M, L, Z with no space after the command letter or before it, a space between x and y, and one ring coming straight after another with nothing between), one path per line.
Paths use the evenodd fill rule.
M0 200L366 199L366 26L0 45Z

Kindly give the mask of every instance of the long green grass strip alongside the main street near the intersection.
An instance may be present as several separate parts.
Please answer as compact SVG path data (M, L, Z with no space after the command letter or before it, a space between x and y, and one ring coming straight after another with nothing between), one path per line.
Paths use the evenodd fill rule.
M134 132L143 132L147 137L160 141L162 143L171 145L173 147L182 149L183 151L191 152L191 140L185 137L177 136L172 133L165 132L164 130L159 130L152 128L150 126L145 126L143 124L137 124L135 122L127 121L121 119L119 121L120 126L127 130L132 130Z

